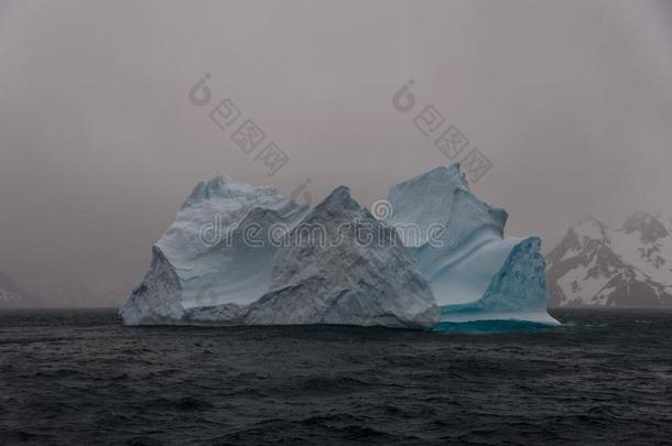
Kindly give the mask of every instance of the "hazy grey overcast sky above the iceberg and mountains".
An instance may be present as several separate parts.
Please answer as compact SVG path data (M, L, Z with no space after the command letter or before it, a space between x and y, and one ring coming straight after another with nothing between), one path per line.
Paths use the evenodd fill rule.
M448 162L425 105L490 160L509 235L672 210L670 1L2 0L0 66L0 270L37 293L128 294L218 173L369 206ZM206 73L290 156L273 177L189 101Z

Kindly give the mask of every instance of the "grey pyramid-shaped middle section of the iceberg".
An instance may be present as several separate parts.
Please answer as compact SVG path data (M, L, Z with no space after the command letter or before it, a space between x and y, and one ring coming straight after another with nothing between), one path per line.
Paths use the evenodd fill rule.
M359 239L357 225L371 228L377 239ZM324 228L324 243L303 237L304 228ZM246 324L431 328L438 322L430 285L411 253L345 187L292 230L272 275L271 290L246 308Z

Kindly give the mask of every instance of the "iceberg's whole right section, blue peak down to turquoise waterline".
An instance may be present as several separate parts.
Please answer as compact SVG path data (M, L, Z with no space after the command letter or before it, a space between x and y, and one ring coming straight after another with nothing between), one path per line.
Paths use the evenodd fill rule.
M443 322L519 319L557 324L546 311L545 261L538 238L503 238L506 210L479 200L459 164L436 167L390 188L389 224L431 281ZM440 222L441 243L426 235Z

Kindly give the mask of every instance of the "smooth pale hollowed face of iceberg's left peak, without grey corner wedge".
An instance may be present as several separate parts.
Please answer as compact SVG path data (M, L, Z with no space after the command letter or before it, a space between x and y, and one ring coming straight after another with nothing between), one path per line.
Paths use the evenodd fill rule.
M196 186L158 242L180 279L182 305L249 304L261 297L270 285L274 247L265 239L251 247L242 231L254 224L263 237L271 225L292 227L307 210L274 188L226 176Z

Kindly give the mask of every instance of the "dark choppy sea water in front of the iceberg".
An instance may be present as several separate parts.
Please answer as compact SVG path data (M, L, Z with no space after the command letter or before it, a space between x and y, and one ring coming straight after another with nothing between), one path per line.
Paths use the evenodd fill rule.
M588 319L465 335L6 312L0 444L670 442L669 316Z

